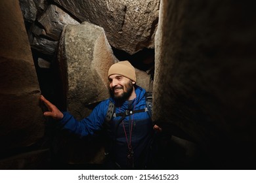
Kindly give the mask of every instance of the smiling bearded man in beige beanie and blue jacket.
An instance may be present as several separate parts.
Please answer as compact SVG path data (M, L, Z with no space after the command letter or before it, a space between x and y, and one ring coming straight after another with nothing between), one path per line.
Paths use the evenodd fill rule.
M99 103L87 118L80 122L68 112L60 112L52 103L41 96L51 116L59 120L63 129L84 137L93 135L108 123L111 139L109 156L111 168L145 169L149 166L154 151L154 133L161 131L152 125L146 108L146 91L136 85L135 68L129 61L119 61L108 70L110 99ZM114 104L115 115L106 122L110 103ZM155 131L154 131L155 129Z

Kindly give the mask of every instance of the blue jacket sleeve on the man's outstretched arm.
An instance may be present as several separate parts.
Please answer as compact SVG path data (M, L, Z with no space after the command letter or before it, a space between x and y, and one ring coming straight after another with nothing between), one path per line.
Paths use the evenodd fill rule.
M79 135L79 137L93 135L95 131L102 128L107 110L108 105L106 101L103 101L93 109L89 116L81 121L75 120L69 112L63 112L64 117L60 120L60 125L62 125L62 129Z

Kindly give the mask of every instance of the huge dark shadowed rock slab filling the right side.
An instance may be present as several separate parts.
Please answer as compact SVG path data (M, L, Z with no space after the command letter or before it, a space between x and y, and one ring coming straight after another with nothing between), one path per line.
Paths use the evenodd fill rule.
M161 1L160 12L154 119L200 144L211 167L255 167L253 8L234 1Z

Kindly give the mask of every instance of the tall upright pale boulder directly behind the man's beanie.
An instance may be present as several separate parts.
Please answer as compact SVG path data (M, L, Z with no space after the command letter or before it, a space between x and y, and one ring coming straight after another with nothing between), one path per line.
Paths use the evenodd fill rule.
M83 22L66 25L58 51L66 86L67 108L77 118L91 112L87 105L109 97L108 68L117 61L102 27Z

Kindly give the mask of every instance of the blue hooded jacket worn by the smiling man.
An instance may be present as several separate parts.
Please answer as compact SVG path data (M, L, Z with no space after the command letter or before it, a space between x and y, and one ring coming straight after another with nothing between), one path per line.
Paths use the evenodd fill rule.
M64 117L60 120L60 124L63 125L64 129L68 129L68 131L80 137L93 135L95 131L102 129L104 125L110 100L116 107L116 113L146 108L146 91L139 86L135 86L135 93L137 97L133 101L116 103L112 98L102 101L87 118L83 118L81 121L75 120L74 116L64 112ZM148 159L150 159L152 139L154 137L150 115L148 112L131 114L125 116L123 121L117 124L120 118L121 116L113 117L109 122L110 133L108 135L112 139L111 157L121 168L129 168L129 163L127 162L127 142L131 142L134 152L134 167L143 169L147 166Z

